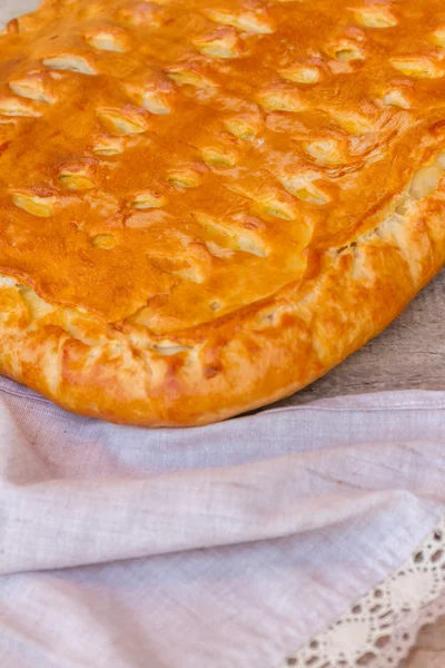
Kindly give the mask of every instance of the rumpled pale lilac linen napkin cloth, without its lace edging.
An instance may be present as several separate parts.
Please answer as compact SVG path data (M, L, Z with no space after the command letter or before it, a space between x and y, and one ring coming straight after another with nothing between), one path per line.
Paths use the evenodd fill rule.
M279 665L445 512L445 393L190 430L0 380L0 666Z

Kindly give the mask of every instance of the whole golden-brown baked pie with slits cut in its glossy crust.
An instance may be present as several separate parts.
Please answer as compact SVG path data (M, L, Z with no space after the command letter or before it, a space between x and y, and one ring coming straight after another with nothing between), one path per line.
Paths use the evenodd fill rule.
M198 425L445 261L443 0L46 0L0 38L0 372Z

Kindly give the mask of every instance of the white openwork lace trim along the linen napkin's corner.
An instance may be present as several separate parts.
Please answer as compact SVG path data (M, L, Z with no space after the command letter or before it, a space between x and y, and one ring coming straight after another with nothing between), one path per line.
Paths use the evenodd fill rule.
M404 566L279 668L397 668L445 615L445 519Z

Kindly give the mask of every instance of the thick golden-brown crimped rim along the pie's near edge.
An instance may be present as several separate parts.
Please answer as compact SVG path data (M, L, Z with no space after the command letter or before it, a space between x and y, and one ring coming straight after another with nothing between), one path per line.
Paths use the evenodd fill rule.
M405 248L400 248L394 239L382 238L382 228L387 225L385 222L353 247L333 252L316 278L303 286L288 286L261 304L245 307L241 322L228 315L220 318L218 327L215 324L201 325L171 336L171 345L188 345L190 340L202 345L200 358L191 363L188 350L161 355L162 364L168 367L165 376L171 374L176 392L166 392L155 383L150 386L148 382L147 395L141 400L137 392L131 393L131 376L122 370L125 354L131 347L128 342L125 354L106 361L101 354L107 353L110 343L88 346L60 327L44 324L32 331L23 328L19 335L17 332L8 335L1 326L1 372L67 410L119 424L202 425L260 407L312 383L382 332L442 268L445 262L445 228L437 214L437 204L443 206L444 200L445 189L441 187L416 203L411 213L397 223ZM409 263L406 252L412 255ZM357 267L354 267L357 257L360 257L359 278L355 277ZM376 265L378 271L375 271ZM388 274L395 267L397 272ZM369 286L363 284L366 273ZM327 296L345 288L350 291L349 297L333 301L329 308ZM14 301L19 289L16 286L0 289L3 305L4 299ZM310 304L315 294L324 304L319 312L316 299ZM359 299L359 318L350 310L352 296ZM340 318L338 313L342 308L344 317ZM280 320L270 324L269 316L277 312ZM307 324L304 327L304 320L310 321L316 313L319 322L314 324L313 321L312 327ZM336 317L333 313L337 314ZM254 324L258 321L263 325L255 330ZM324 337L326 326L329 326L329 338L340 335L336 348ZM270 328L278 338L271 345L267 337ZM88 369L91 347L96 348L99 362L86 380L85 370ZM238 356L237 347L243 351L241 354L238 352ZM250 357L245 354L246 348L250 351ZM140 354L140 346L139 351L134 347L132 354ZM152 361L159 356L156 352L150 354ZM225 372L219 371L212 376L212 364L219 364L227 355L230 355L229 370L226 367ZM191 364L191 371L189 375L185 374L185 381L179 382L178 369L187 370L187 364ZM107 377L105 383L103 374ZM145 380L149 381L149 373L145 375ZM191 379L189 383L187 377ZM217 379L216 383L212 383L212 377ZM267 391L264 391L265 379ZM235 383L237 394L234 393ZM113 389L122 386L123 395L119 396L118 392L116 396Z

